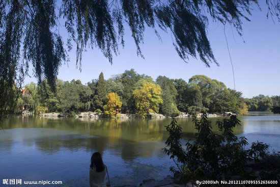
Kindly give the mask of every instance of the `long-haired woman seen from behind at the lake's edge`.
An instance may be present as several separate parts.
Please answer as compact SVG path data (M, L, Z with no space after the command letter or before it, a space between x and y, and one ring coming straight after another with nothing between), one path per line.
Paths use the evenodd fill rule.
M90 186L106 187L106 172L107 168L103 164L101 154L99 152L93 153L90 166Z

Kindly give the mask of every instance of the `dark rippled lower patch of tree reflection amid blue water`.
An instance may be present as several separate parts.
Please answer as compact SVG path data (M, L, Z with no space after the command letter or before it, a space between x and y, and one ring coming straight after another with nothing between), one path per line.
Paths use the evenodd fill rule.
M25 145L31 143L30 141L26 140ZM106 149L109 149L124 160L132 160L140 156L147 156L147 152L153 153L155 151L153 146L147 146L147 144L110 137L57 135L32 141L36 142L39 150L47 154L57 153L63 149L70 151L85 149L87 152L99 151L102 154Z

